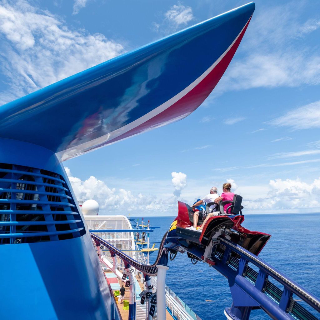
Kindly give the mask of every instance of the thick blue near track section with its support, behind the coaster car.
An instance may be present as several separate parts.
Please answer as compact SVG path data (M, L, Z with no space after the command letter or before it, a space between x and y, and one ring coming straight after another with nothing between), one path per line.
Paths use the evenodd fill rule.
M225 250L217 250L212 259L215 262L213 267L228 277L233 299L231 308L225 309L229 319L249 319L252 307L260 307L271 318L278 320L317 319L292 299L295 294L320 312L320 302L315 296L251 252L225 238L219 238ZM193 254L195 253L196 251L193 251ZM258 267L259 272L250 268L249 263ZM283 285L284 290L269 282L269 277Z

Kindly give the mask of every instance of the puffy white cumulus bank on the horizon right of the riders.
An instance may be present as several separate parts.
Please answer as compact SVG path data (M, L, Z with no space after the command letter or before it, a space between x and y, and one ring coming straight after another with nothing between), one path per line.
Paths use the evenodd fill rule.
M320 207L320 178L312 183L291 179L276 179L269 182L270 191L263 198L245 201L249 210L308 210Z

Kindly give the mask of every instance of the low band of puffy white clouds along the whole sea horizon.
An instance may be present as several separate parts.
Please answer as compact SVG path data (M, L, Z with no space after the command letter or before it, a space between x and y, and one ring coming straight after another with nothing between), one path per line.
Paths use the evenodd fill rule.
M66 167L69 180L76 194L77 199L94 199L100 204L100 212L104 214L119 214L131 212L131 214L140 214L141 212L152 211L158 212L159 215L176 215L177 214L177 196L184 190L184 196L187 203L193 203L197 196L208 193L207 190L212 185L220 185L211 182L210 186L198 179L190 180L190 186L186 184L187 176L182 172L172 172L172 185L174 196L163 193L161 198L155 194L159 191L158 187L154 188L154 183L145 188L145 193L132 192L124 188L110 188L104 181L93 176L87 180L81 180L73 177L70 170ZM200 180L201 181L201 180ZM297 179L274 179L265 185L245 185L243 182L238 186L234 179L227 179L231 183L231 191L243 196L244 213L259 212L311 212L320 208L320 177L308 183ZM122 182L129 185L127 181ZM138 181L141 186L145 181ZM163 189L170 189L170 184L165 181L157 181L156 185ZM131 183L131 187L136 188L137 183ZM171 187L172 188L172 187ZM186 189L186 190L185 190ZM188 190L187 190L188 189ZM210 189L210 188L209 188ZM147 195L147 192L155 194ZM221 190L219 190L221 192Z

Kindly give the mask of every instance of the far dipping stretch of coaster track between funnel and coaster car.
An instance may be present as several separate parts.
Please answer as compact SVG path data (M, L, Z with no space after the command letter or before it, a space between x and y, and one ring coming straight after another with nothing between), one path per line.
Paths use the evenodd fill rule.
M162 255L162 252L163 252L164 241L165 241L165 239L167 237L167 233L168 232L166 232L164 234L164 236L163 236L163 238L161 240L156 261L151 265L147 265L147 264L143 264L143 263L138 262L137 260L132 259L131 257L129 257L127 254L125 254L121 250L118 250L116 247L114 247L109 242L103 240L99 236L96 236L95 234L90 232L92 239L96 243L99 243L100 245L105 246L109 251L115 253L120 259L122 259L125 262L129 263L132 267L136 268L137 270L143 272L145 275L148 275L148 276L156 276L157 273L158 273L158 268L156 267L156 265L159 263L159 260L161 258L161 255Z

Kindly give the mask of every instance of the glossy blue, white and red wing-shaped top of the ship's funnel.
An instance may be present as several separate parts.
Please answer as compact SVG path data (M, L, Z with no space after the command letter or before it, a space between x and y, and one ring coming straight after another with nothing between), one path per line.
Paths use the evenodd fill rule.
M0 108L0 138L63 161L178 121L210 94L254 11L249 3Z

